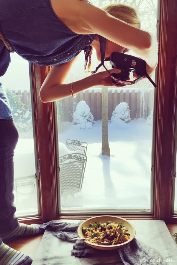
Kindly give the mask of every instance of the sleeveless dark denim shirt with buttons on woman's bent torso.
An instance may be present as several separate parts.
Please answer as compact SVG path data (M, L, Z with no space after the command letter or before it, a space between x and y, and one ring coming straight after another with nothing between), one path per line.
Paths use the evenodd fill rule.
M69 29L55 14L50 0L1 0L0 23L6 40L17 54L42 66L72 60L95 39ZM69 14L68 14L69 15ZM10 54L0 39L0 76Z

